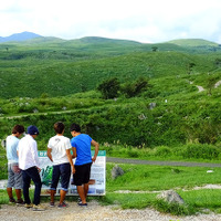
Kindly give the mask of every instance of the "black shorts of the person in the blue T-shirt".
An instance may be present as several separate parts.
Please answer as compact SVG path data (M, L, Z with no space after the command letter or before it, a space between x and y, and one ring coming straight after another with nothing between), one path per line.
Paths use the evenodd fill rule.
M82 186L90 182L92 162L86 165L75 165L73 181L75 186Z

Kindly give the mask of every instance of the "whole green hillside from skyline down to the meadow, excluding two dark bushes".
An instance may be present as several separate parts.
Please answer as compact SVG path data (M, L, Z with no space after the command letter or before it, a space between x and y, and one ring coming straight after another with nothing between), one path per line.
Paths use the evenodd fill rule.
M104 99L97 87L113 77L122 88L139 77L148 84L135 96L119 91L114 99ZM204 40L141 44L39 38L1 43L0 136L4 138L14 124L34 124L41 131L39 146L45 149L56 120L67 127L77 122L101 144L208 144L218 148L219 159L219 81L221 48Z

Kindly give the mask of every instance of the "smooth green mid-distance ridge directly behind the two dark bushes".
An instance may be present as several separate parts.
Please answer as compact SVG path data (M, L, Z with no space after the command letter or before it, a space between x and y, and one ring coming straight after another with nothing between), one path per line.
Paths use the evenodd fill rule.
M215 57L208 60L203 55L178 52L133 53L90 61L69 59L56 61L41 57L28 57L21 61L2 60L0 61L0 96L2 98L39 97L42 93L48 93L51 97L65 96L94 90L105 78L115 76L120 82L146 76L150 84L161 87L159 81L167 85L172 80L176 84L180 82L180 77L186 81L198 81L204 73L211 71L214 73L217 70L214 60ZM189 75L188 65L192 61L196 66L192 70L193 74ZM170 86L167 87L170 90Z

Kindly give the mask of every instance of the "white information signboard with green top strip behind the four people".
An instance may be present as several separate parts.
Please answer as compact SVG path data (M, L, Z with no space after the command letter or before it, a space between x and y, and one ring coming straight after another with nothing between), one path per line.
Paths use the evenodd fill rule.
M92 150L92 156L94 156L94 150ZM42 179L42 191L41 194L50 194L50 187L52 182L52 161L48 158L46 151L39 151L40 158L40 172ZM74 162L75 160L73 160ZM73 175L70 179L70 187L67 196L77 196L76 186L72 185ZM99 150L96 161L92 164L91 179L88 196L104 196L106 189L106 151ZM61 183L59 182L56 194L60 193Z

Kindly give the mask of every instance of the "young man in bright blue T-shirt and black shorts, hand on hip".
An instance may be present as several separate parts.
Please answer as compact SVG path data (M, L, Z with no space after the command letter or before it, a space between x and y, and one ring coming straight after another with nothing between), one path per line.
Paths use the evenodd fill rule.
M71 144L73 149L73 158L75 161L74 185L77 188L81 201L78 206L87 206L86 197L88 192L88 182L91 176L92 162L96 160L99 145L86 134L81 134L81 127L77 124L72 124L71 134L73 136ZM95 147L95 155L92 158L91 145Z

